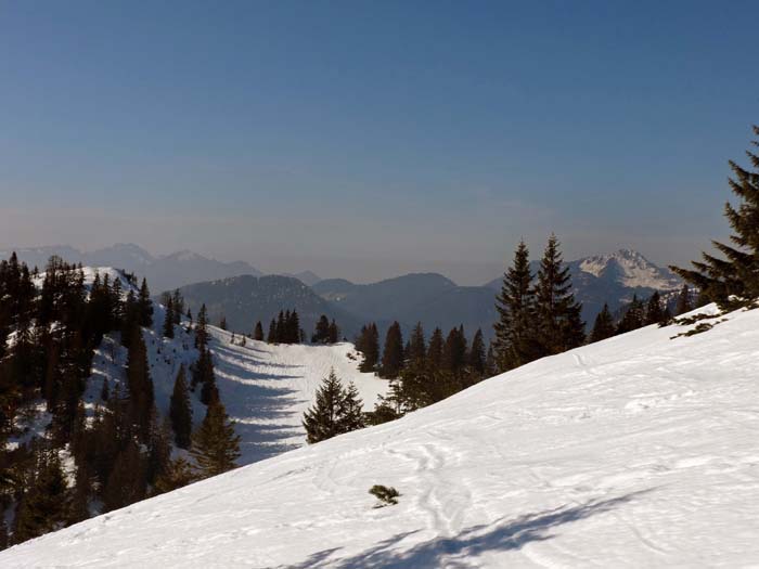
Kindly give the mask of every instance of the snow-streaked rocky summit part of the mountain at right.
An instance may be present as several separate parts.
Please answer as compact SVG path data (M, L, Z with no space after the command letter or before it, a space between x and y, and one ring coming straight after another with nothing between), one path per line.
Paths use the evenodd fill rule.
M631 249L587 257L580 260L579 268L580 271L597 277L613 271L610 276L630 288L669 290L680 285L680 281L669 271L656 267L643 255Z

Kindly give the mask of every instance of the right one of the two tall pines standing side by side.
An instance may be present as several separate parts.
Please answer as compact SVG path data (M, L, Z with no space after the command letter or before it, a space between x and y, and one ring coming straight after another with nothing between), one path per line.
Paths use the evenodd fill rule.
M582 306L571 294L569 268L562 261L558 240L553 234L540 261L535 298L541 357L561 353L584 342L584 323L580 318Z

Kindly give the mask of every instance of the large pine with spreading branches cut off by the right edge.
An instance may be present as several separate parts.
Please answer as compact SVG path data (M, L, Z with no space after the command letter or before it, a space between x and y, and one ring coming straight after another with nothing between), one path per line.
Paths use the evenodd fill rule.
M759 135L759 126L752 129ZM759 146L759 141L751 144ZM730 203L724 206L724 216L734 231L732 243L712 242L723 258L704 253L702 261L692 262L693 270L670 267L706 299L722 307L731 305L731 296L745 300L759 297L759 155L750 151L746 155L755 171L729 163L734 174L729 179L730 189L741 203L737 207Z

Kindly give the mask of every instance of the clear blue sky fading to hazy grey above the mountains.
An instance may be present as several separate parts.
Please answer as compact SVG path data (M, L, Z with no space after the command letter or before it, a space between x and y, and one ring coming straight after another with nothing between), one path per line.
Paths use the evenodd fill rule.
M723 238L759 2L0 0L0 249L357 282Z

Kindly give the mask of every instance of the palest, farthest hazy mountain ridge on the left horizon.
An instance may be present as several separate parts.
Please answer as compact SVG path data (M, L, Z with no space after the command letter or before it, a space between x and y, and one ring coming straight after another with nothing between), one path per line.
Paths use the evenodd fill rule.
M0 251L0 258L10 257L12 250ZM152 290L167 290L185 284L241 274L261 274L256 268L242 261L222 262L188 250L156 257L131 243L119 243L89 253L67 245L15 250L18 260L29 267L37 266L40 270L52 255L57 255L67 262L80 262L85 266L117 267L133 272L139 277L146 277Z

